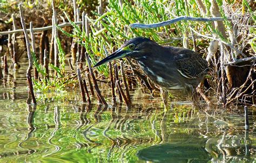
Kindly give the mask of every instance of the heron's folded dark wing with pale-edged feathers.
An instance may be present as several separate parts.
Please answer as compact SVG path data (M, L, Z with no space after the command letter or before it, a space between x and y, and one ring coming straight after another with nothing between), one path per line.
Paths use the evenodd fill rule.
M208 72L207 61L190 49L181 49L174 54L178 72L188 79L197 79Z

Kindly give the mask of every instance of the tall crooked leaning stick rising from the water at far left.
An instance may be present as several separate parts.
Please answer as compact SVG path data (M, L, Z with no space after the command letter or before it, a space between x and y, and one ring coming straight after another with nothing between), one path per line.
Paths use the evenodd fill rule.
M22 11L22 5L19 4L19 14L21 15L21 24L22 24L22 28L24 31L24 35L25 35L25 40L26 40L26 49L28 51L28 59L29 59L29 67L26 70L26 79L28 79L28 84L29 84L29 90L30 90L30 94L32 96L32 100L33 103L36 104L36 98L33 92L33 84L32 84L32 79L31 79L31 69L32 69L32 56L31 56L31 51L30 51L30 42L29 42L29 35L28 32L26 31L26 24L24 21L24 16L23 16L23 11Z

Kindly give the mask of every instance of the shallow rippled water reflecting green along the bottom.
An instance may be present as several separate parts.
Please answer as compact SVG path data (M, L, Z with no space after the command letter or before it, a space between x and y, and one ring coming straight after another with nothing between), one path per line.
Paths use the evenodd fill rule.
M242 109L210 116L176 102L164 112L158 95L139 88L130 109L82 104L79 91L37 93L33 106L24 70L9 72L0 84L0 162L256 161L255 108L245 130Z

